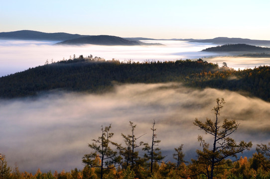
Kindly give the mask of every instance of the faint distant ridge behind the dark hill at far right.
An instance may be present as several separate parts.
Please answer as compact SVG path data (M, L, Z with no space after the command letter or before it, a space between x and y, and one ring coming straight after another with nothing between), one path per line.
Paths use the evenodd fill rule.
M191 40L190 42L213 43L217 45L248 44L248 45L258 45L258 46L270 46L270 40L251 40L251 39L228 38L228 37L217 37L217 38L205 39L205 40Z

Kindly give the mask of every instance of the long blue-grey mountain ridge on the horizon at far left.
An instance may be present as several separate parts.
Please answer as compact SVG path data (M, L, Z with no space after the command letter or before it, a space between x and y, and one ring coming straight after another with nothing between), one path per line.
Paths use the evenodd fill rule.
M64 32L45 33L33 30L19 30L13 32L0 32L0 39L18 39L18 40L52 40L64 41L88 35L69 34Z

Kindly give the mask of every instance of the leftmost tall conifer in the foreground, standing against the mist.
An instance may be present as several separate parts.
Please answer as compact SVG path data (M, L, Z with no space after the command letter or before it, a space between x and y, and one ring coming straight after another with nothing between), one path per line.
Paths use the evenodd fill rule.
M94 152L85 154L83 157L83 163L88 167L101 169L100 179L103 179L104 170L114 169L121 160L121 157L117 156L117 152L110 147L110 144L115 144L111 141L114 133L110 133L110 129L111 124L105 128L101 126L101 136L97 140L93 139L92 144L88 144ZM96 160L97 158L100 159L100 162Z

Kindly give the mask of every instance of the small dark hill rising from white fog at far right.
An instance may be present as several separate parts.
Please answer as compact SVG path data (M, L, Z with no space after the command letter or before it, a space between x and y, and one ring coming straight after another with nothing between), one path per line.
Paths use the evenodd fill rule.
M210 47L204 49L205 52L256 52L256 53L270 53L270 48L258 47L254 45L247 44L226 44L217 47Z

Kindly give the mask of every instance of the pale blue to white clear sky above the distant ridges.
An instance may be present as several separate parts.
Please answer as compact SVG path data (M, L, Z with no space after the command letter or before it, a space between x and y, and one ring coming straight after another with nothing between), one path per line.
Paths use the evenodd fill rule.
M270 40L270 0L0 1L0 32Z

